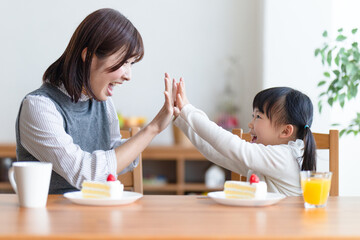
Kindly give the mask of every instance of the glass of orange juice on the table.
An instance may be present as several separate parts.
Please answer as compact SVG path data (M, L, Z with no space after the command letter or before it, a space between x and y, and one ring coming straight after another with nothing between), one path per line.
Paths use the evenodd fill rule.
M301 171L301 189L305 208L323 208L330 192L331 172Z

